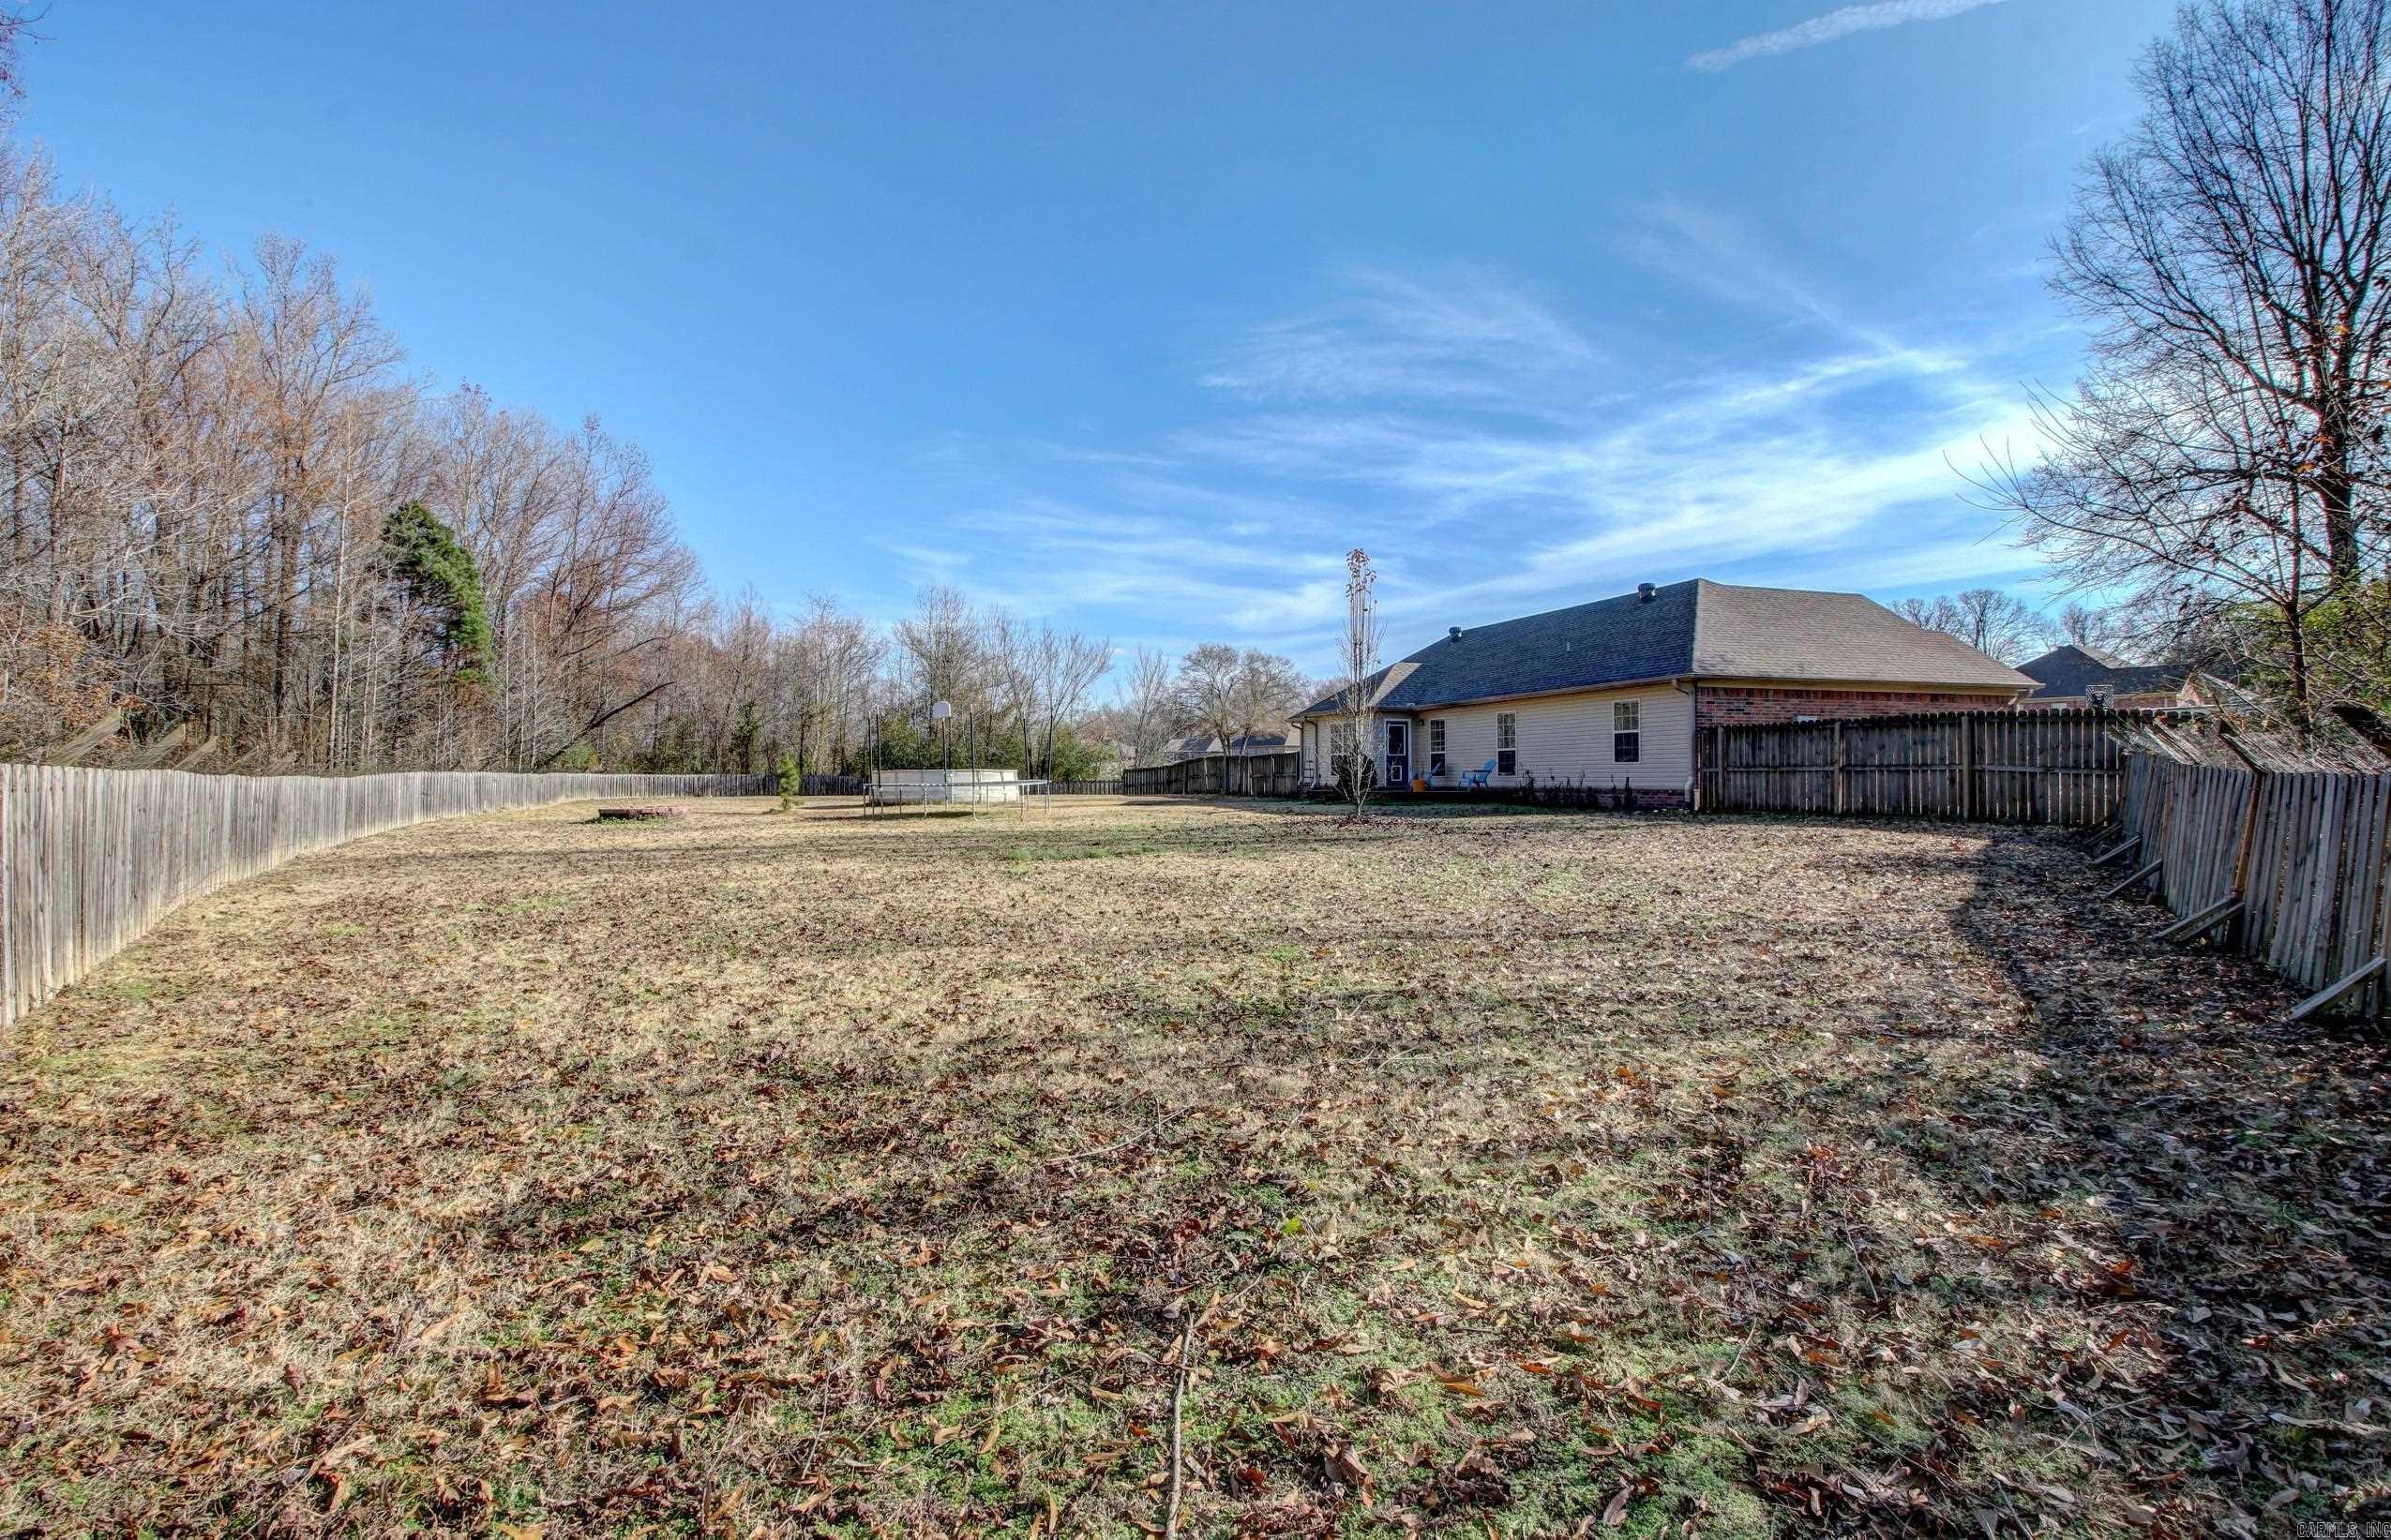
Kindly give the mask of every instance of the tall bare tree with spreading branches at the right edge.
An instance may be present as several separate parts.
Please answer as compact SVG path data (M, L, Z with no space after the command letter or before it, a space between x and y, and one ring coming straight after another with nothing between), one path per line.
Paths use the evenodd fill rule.
M2381 569L2386 5L2200 0L2152 43L2054 251L2090 368L1980 481L2075 583L2267 653L2298 722L2317 610Z

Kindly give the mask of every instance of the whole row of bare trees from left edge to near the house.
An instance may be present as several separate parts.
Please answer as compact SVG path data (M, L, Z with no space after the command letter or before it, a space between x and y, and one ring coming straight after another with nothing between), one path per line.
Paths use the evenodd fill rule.
M218 265L12 134L0 2L0 756L206 770L1066 777L1284 722L1305 682L935 586L873 627L710 591L638 445L430 390L335 261ZM1114 674L1114 701L1097 682ZM956 713L935 727L930 708ZM964 734L961 741L949 741Z

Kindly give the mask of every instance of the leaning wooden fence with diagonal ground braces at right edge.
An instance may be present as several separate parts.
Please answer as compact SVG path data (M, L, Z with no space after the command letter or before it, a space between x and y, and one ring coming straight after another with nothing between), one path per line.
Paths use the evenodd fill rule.
M2135 753L2118 844L2099 861L2178 918L2161 935L2228 945L2312 990L2298 1014L2384 1007L2391 775L2185 765Z

